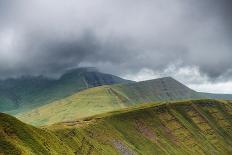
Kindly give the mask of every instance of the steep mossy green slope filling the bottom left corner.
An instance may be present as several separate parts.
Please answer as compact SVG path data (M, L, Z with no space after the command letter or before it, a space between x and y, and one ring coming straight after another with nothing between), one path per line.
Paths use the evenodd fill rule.
M51 147L50 147L51 146ZM72 154L54 133L0 113L0 154Z

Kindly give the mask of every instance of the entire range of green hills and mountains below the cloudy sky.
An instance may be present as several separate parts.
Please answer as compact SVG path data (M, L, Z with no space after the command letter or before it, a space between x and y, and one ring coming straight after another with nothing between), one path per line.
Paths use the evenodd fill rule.
M0 154L231 154L232 95L95 68L0 81Z

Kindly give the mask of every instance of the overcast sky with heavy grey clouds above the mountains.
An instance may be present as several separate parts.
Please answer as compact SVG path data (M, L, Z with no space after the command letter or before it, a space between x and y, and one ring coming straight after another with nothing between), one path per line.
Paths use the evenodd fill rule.
M0 0L0 78L75 67L232 93L231 0Z

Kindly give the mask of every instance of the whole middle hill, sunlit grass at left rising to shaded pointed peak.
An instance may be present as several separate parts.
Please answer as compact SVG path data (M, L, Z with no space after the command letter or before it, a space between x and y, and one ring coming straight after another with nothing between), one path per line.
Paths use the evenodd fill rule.
M33 125L46 125L119 110L145 102L196 98L203 97L173 78L167 77L87 89L16 116Z

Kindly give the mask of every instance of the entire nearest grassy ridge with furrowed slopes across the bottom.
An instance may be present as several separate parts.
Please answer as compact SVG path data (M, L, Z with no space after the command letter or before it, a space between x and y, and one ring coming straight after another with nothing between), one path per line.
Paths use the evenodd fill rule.
M150 103L38 129L0 114L0 154L231 154L232 103Z

